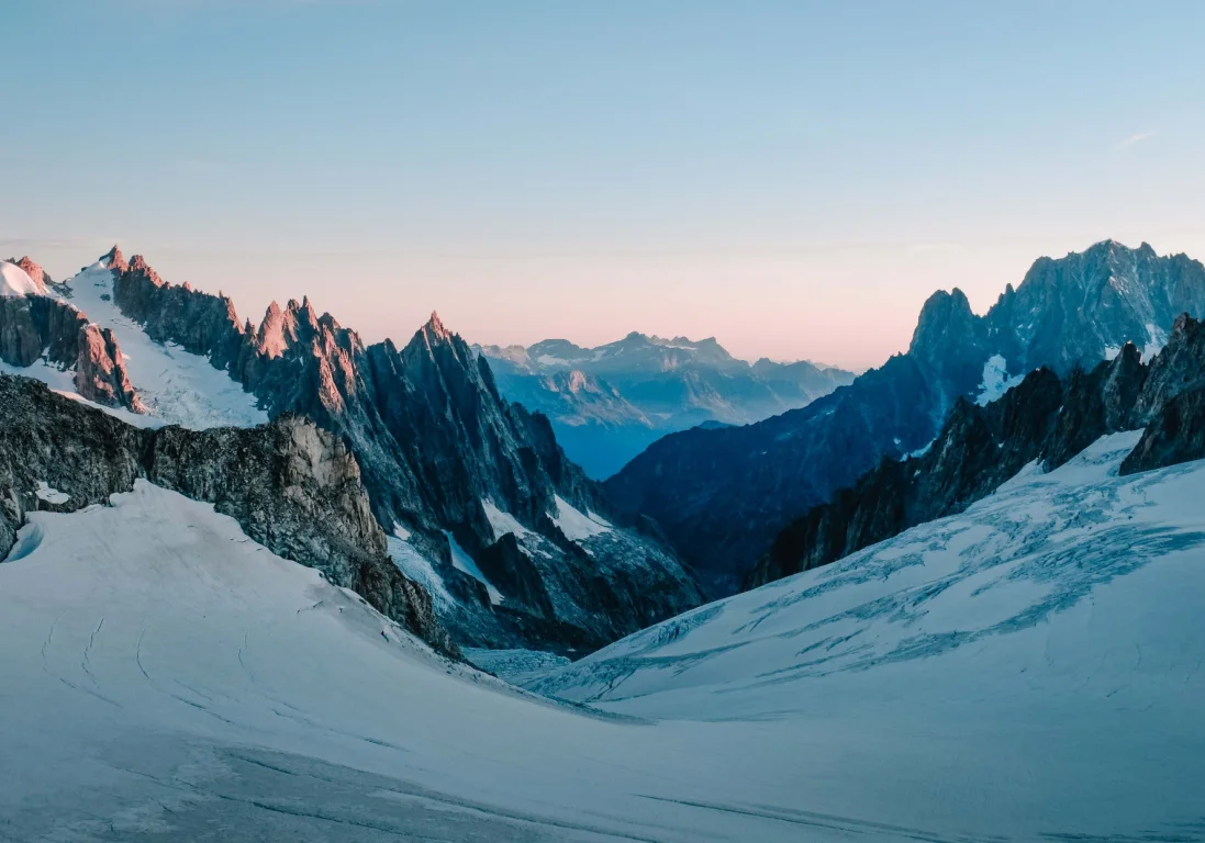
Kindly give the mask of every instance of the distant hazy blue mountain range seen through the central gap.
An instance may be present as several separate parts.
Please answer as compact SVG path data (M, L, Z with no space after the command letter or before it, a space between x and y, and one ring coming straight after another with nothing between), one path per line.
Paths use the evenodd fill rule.
M598 348L568 340L475 347L502 394L548 415L565 453L609 477L665 434L706 421L748 424L803 407L853 379L807 361L750 365L713 337L631 332Z

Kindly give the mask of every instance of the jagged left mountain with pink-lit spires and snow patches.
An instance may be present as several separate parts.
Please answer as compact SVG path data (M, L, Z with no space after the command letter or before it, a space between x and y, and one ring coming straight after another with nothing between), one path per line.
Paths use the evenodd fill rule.
M656 529L613 514L435 316L401 348L365 346L308 300L241 322L116 247L45 293L5 271L23 285L0 299L6 371L140 426L295 413L346 442L395 564L460 643L588 650L703 601Z

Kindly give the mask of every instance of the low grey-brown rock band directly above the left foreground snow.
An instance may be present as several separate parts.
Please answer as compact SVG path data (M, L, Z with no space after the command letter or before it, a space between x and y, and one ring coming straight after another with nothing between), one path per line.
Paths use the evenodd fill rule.
M27 511L102 503L141 477L212 502L272 553L318 568L455 654L430 596L386 555L354 458L313 423L284 415L253 429L143 430L8 376L0 406L0 558ZM39 483L67 499L48 502Z

